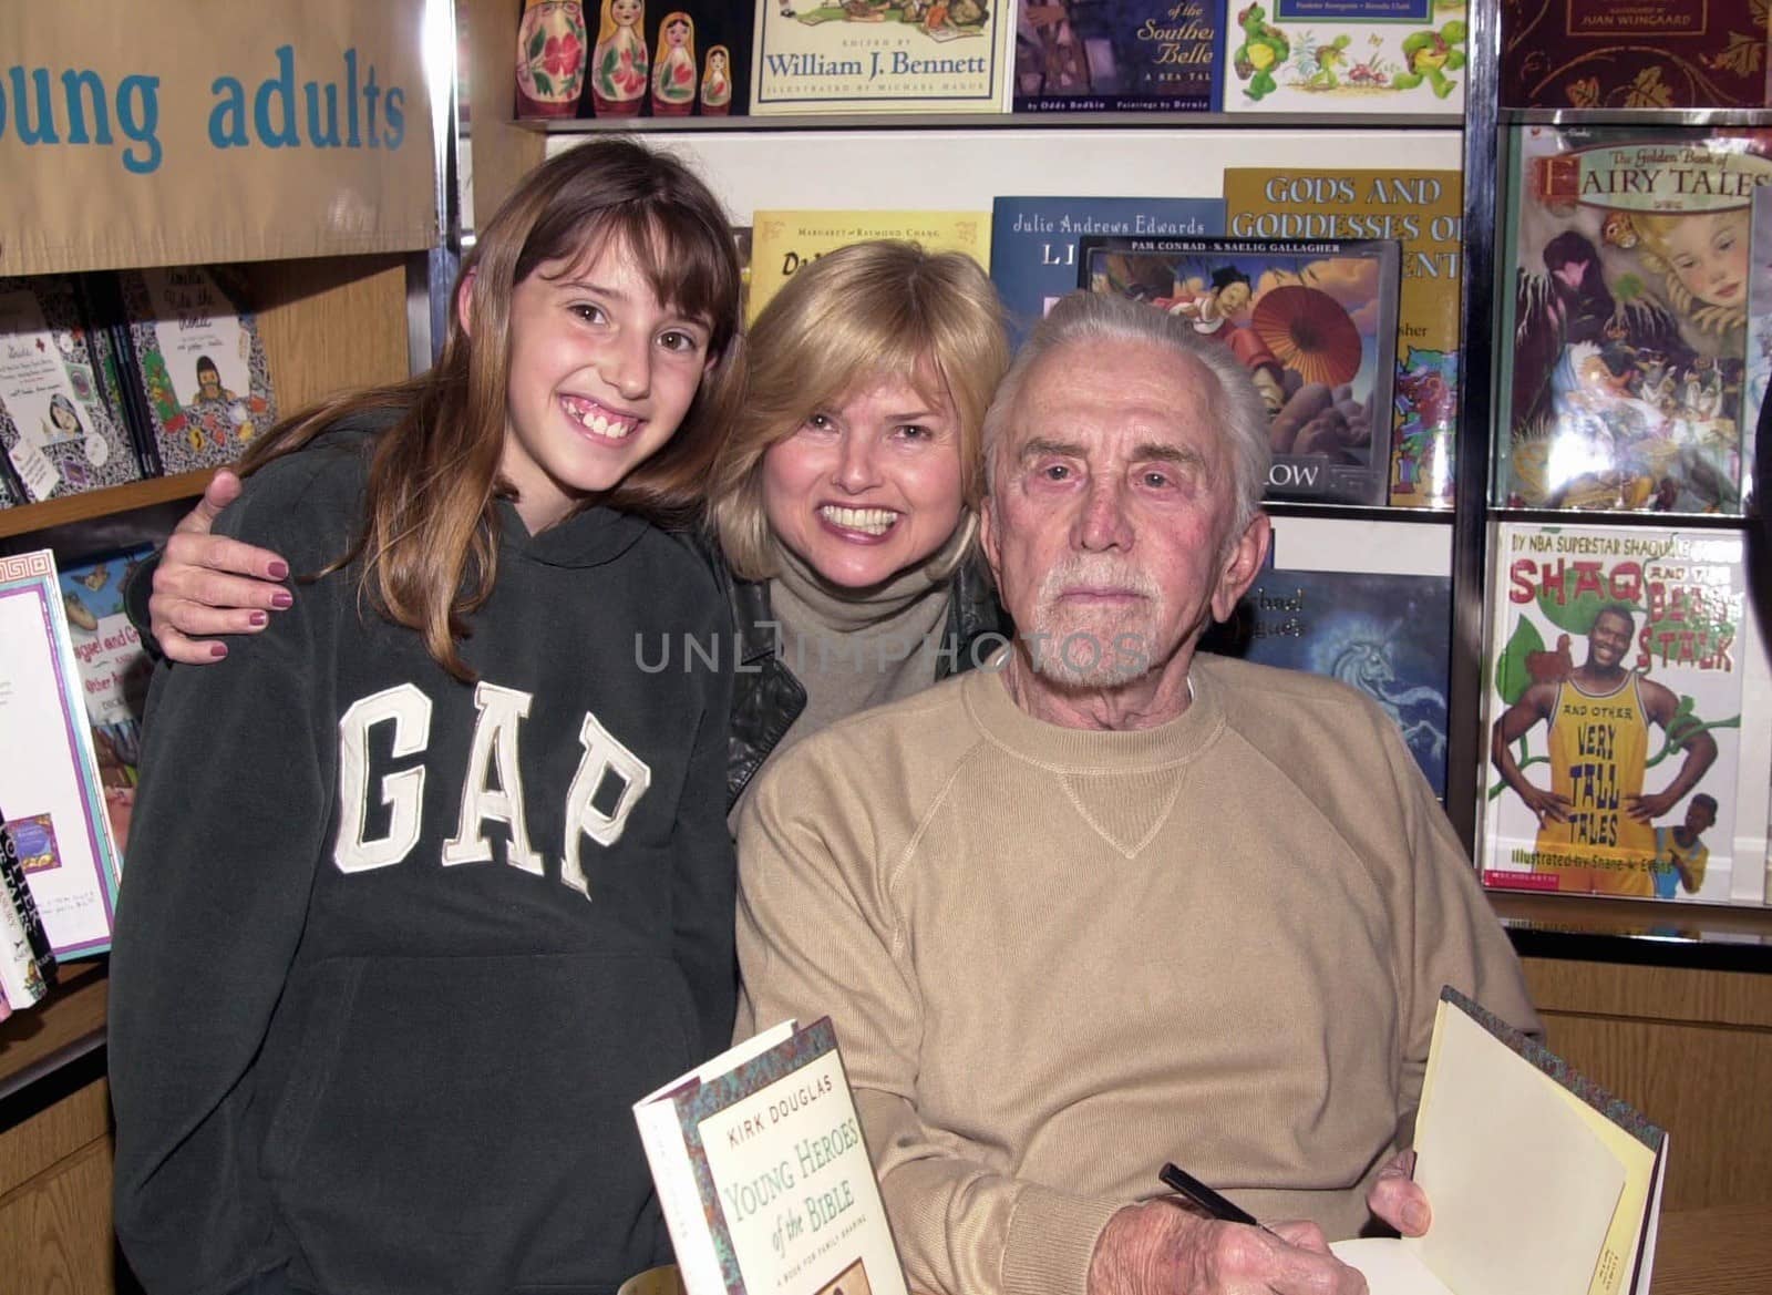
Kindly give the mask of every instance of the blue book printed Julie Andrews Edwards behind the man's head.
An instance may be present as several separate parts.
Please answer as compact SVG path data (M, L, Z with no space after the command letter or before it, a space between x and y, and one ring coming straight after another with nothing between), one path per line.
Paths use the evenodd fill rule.
M1010 340L1067 292L1077 291L1077 243L1086 234L1198 237L1224 232L1219 198L1001 197L991 211L991 282L1008 310Z

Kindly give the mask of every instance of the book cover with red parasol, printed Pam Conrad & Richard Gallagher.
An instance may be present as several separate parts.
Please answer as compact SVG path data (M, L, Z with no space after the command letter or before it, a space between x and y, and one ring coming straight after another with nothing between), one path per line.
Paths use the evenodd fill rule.
M1092 236L1077 283L1180 315L1249 368L1269 413L1272 500L1389 500L1395 239Z

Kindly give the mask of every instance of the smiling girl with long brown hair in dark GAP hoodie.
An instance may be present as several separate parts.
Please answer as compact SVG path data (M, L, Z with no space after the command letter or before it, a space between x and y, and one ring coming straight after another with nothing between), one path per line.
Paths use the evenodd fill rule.
M112 955L149 1291L610 1291L668 1256L631 1102L734 1013L728 624L656 526L742 376L725 216L627 142L533 172L438 365L253 448L314 579L154 686Z

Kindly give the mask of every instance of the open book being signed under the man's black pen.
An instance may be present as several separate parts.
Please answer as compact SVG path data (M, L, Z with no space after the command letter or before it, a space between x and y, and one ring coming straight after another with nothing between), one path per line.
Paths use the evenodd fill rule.
M1336 1242L1372 1295L1648 1295L1667 1134L1441 992L1416 1116L1426 1237Z

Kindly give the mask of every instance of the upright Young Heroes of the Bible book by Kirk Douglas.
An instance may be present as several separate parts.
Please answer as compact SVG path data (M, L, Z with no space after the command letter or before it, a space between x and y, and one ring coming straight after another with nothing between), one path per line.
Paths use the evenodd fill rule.
M905 1295L829 1017L721 1052L634 1120L689 1295Z

